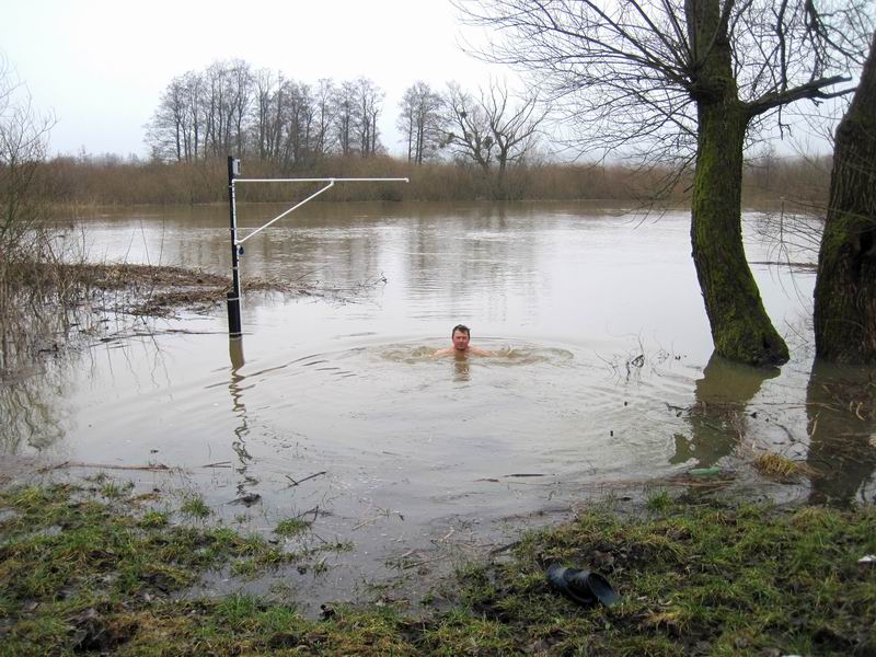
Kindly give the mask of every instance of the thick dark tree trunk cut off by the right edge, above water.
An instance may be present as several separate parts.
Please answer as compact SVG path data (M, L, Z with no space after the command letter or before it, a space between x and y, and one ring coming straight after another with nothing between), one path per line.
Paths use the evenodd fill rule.
M815 285L815 353L876 364L876 34L837 128Z

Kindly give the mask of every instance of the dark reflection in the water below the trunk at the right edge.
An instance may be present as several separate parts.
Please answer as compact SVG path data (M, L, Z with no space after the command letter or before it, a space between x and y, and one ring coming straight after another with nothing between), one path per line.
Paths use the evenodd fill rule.
M806 462L821 476L812 477L811 504L876 502L876 419L873 383L864 372L816 361L806 388L809 453ZM861 403L858 406L858 403Z

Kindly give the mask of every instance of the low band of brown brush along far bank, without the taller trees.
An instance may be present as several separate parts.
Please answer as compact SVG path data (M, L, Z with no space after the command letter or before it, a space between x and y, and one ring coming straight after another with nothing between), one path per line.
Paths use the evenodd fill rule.
M623 164L518 164L503 176L453 162L414 164L388 155L328 157L307 170L288 171L268 161L243 160L242 177L408 177L410 184L337 185L321 200L586 200L646 199L672 178L667 169ZM761 158L746 171L747 203L780 198L820 207L830 178L830 158ZM39 169L39 194L54 204L208 204L227 200L227 159L196 162L125 161L114 155L59 157ZM661 198L683 203L689 181L680 176ZM240 187L243 201L288 200L301 186Z

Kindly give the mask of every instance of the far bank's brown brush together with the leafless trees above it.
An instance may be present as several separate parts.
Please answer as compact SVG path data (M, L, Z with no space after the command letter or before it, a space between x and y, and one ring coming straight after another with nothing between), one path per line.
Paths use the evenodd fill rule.
M149 125L148 162L118 158L49 163L48 194L85 203L212 203L226 198L226 155L241 158L246 177L410 177L411 184L344 185L324 199L629 199L680 201L689 175L668 168L557 163L549 108L537 92L511 93L491 81L476 91L416 81L395 113L406 152L388 155L378 118L384 92L367 78L315 82L255 69L242 59L215 61L173 78ZM749 197L827 197L829 169L764 157L747 172ZM679 160L682 160L679 157ZM277 200L301 191L245 187L246 200Z

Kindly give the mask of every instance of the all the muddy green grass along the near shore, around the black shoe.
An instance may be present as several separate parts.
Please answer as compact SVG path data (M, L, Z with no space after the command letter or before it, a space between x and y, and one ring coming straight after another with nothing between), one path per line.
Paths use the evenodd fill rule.
M645 515L596 507L470 564L429 592L437 611L326 608L246 595L172 599L208 568L290 560L261 537L173 525L124 486L0 493L0 654L866 655L876 653L876 510L689 504ZM287 527L288 525L288 527ZM299 528L280 523L277 533ZM584 609L551 590L549 563L597 569L622 596ZM424 591L426 593L426 591Z

